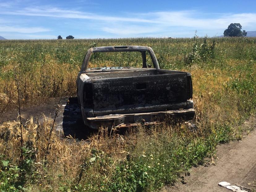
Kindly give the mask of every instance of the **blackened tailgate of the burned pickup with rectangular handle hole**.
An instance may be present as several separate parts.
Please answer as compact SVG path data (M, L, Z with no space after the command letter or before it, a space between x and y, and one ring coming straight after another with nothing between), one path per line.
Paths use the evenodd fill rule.
M179 109L187 101L187 74L92 79L92 93L94 116L142 108L144 112Z

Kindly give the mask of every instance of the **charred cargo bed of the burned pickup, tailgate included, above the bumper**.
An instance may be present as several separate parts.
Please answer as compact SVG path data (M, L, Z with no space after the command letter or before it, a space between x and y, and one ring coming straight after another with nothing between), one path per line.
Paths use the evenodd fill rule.
M93 116L186 109L190 74L174 70L138 69L89 72L85 106Z

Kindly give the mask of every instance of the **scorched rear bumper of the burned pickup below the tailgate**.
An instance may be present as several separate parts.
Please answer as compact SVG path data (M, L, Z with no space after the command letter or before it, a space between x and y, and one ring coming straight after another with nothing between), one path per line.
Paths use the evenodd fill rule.
M130 127L138 124L151 125L162 122L165 118L179 119L185 121L194 117L194 109L159 111L151 113L133 113L133 114L111 114L97 117L87 117L86 124L92 129L100 127Z

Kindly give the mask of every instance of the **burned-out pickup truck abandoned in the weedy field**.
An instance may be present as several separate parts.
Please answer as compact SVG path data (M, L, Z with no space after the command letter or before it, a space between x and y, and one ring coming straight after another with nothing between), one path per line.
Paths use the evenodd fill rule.
M90 48L77 77L77 97L83 122L92 129L150 125L166 117L190 120L195 114L190 73L160 69L147 46Z

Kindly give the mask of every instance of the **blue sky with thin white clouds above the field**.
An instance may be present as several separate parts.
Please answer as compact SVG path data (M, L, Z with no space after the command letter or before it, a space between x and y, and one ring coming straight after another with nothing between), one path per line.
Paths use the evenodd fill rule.
M256 1L0 0L6 39L219 36L230 23L256 30Z

